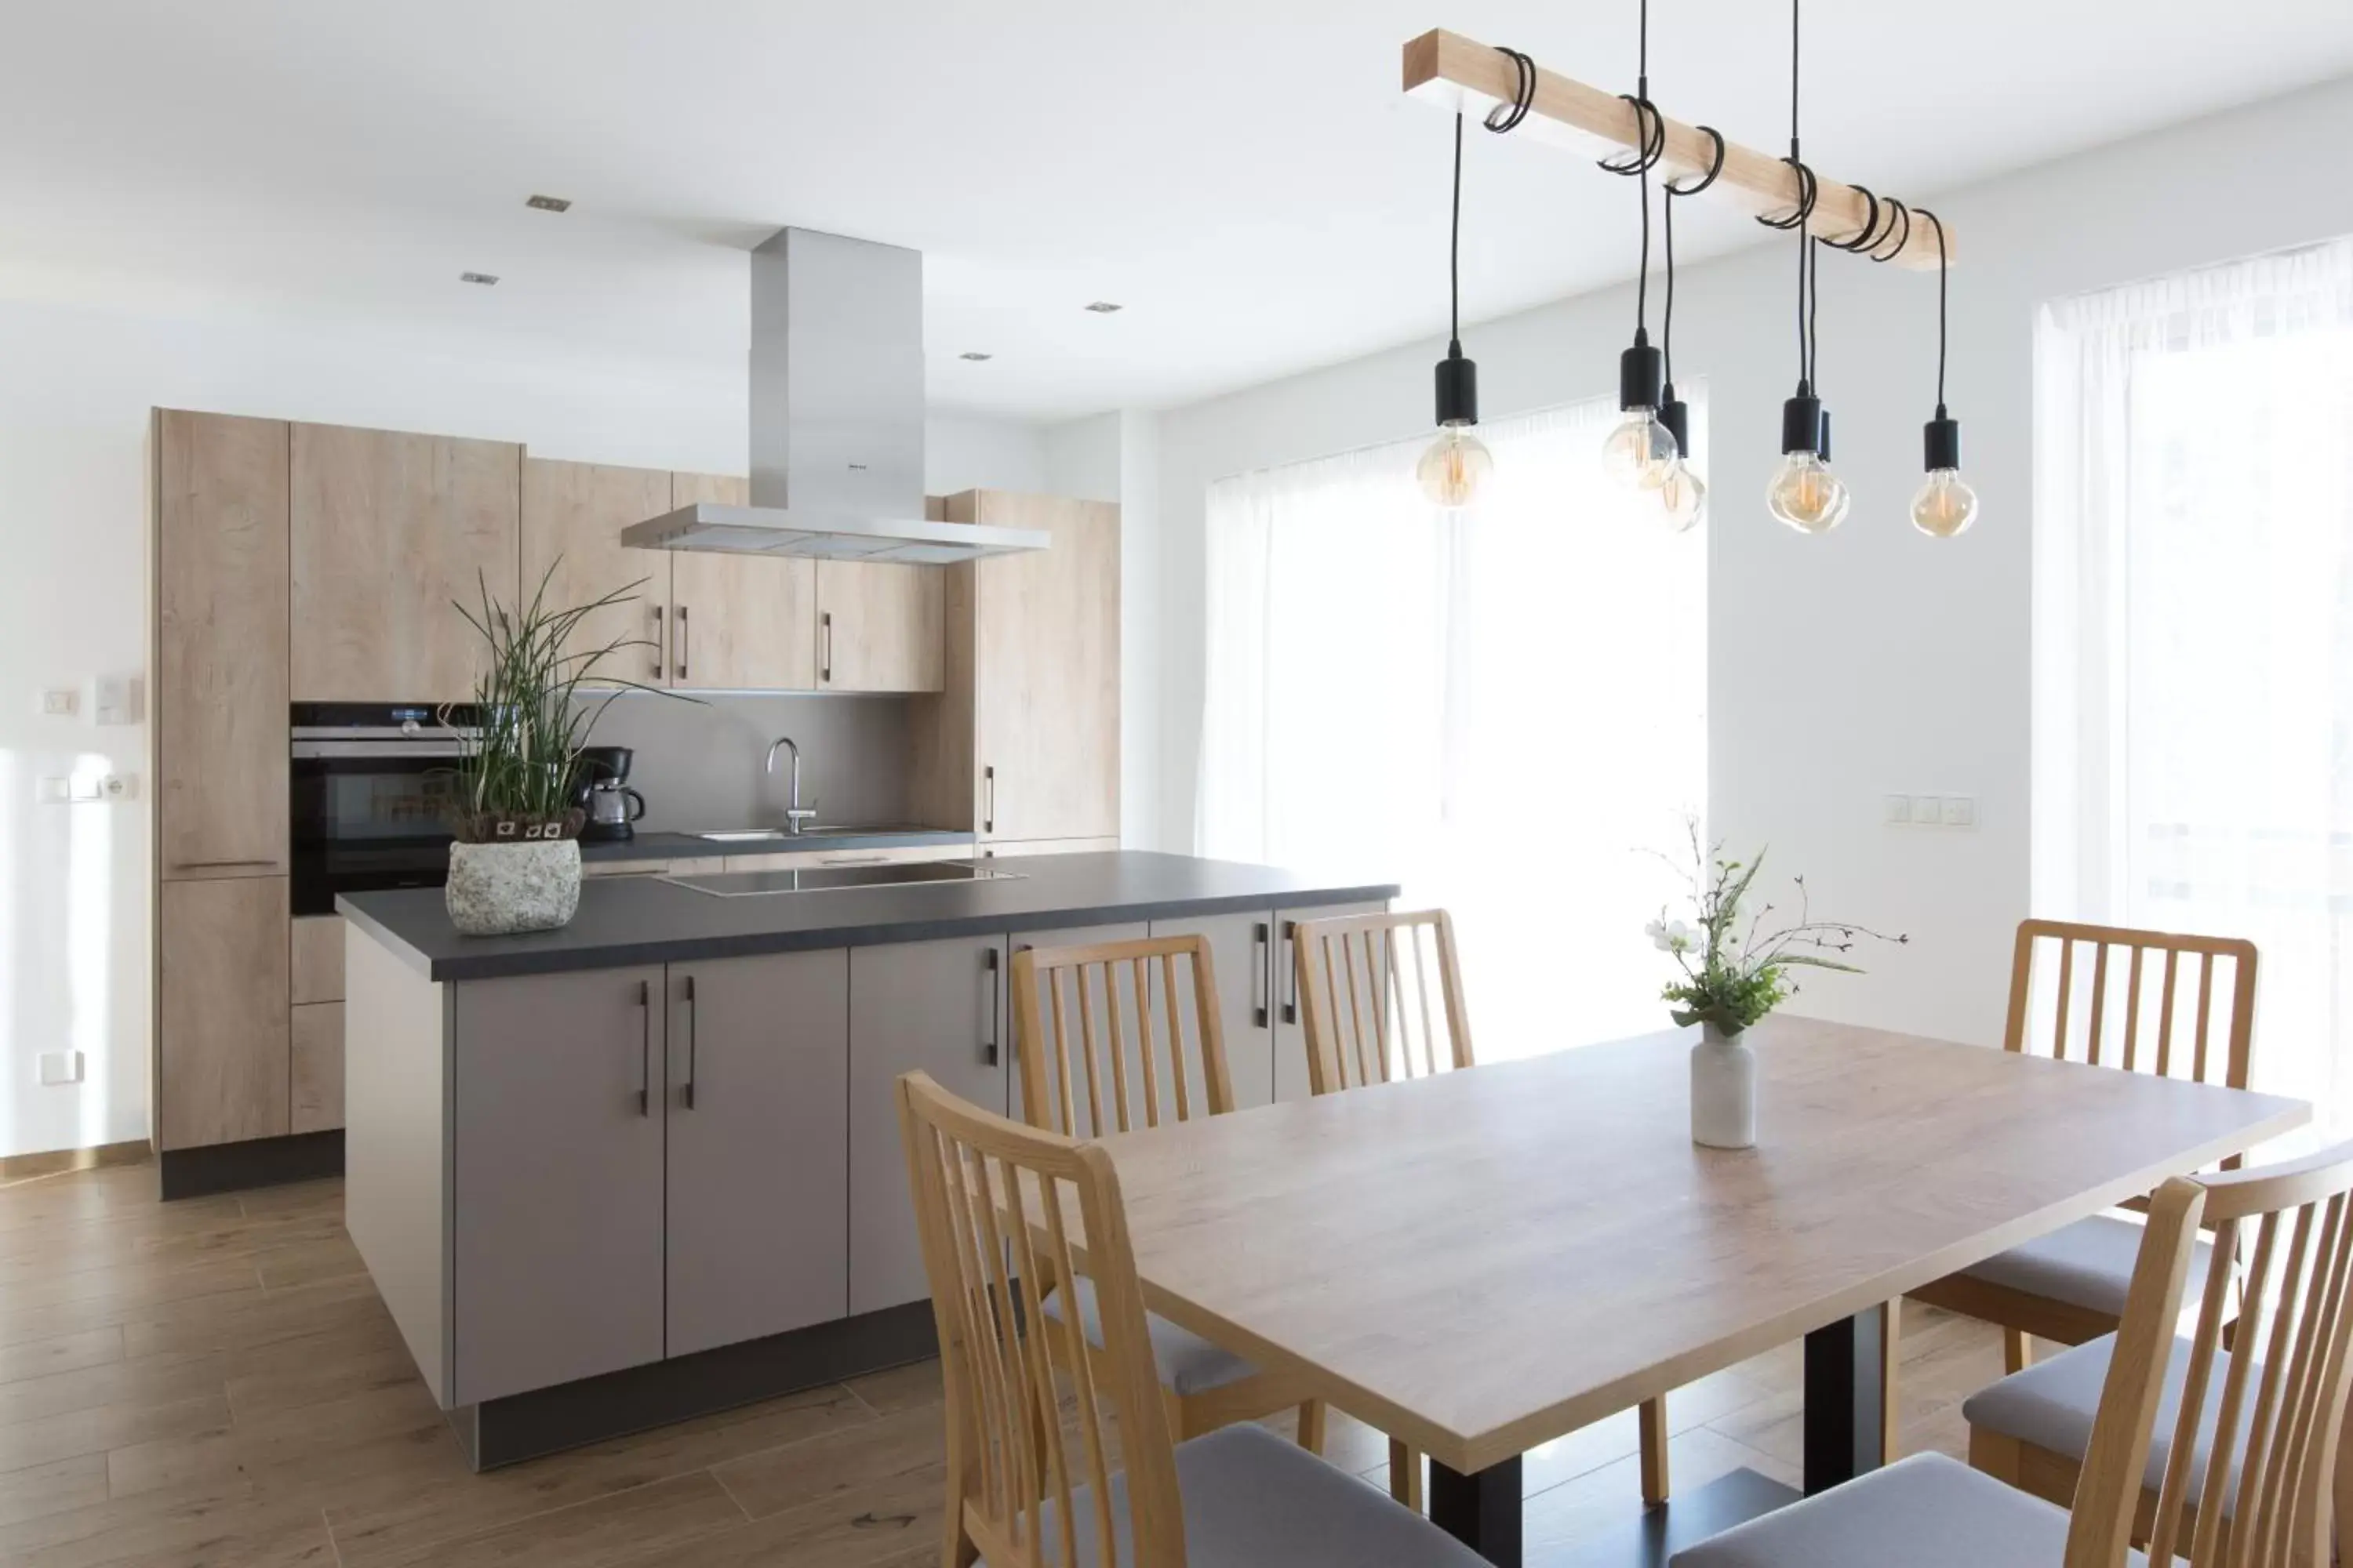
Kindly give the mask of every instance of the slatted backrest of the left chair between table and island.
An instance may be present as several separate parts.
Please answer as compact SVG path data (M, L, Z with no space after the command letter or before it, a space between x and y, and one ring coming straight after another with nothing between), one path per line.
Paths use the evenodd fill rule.
M1075 1039L1064 1006L1068 976L1078 990ZM1071 1138L1233 1110L1217 964L1205 936L1014 952L1014 1044L1021 1114ZM1085 1119L1073 1077L1087 1081Z

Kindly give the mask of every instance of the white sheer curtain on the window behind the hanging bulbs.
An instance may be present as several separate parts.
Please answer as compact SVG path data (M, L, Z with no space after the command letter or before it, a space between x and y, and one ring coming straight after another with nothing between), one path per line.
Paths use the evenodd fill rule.
M1706 804L1706 524L1602 477L1614 421L1480 425L1454 517L1426 437L1209 487L1198 849L1449 907L1482 1058L1666 1027L1642 922Z

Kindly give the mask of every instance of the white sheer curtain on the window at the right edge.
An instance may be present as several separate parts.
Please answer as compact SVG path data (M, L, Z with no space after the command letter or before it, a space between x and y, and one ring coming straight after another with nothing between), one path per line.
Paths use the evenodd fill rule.
M2353 240L2047 306L2035 378L2035 912L2252 938L2344 1131Z

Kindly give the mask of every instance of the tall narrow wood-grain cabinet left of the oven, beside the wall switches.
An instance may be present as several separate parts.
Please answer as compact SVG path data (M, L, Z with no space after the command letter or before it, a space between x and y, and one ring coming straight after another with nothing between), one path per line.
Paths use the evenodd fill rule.
M287 425L158 409L155 1143L287 1131Z

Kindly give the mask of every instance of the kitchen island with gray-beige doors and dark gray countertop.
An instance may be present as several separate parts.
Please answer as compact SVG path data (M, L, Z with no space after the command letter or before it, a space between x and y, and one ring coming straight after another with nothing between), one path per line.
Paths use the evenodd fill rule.
M1398 896L1134 851L974 870L598 879L513 938L428 889L336 900L346 1222L478 1467L932 1354L892 1086L1021 1112L1012 952L1207 936L1252 1107L1306 1093L1289 924Z

